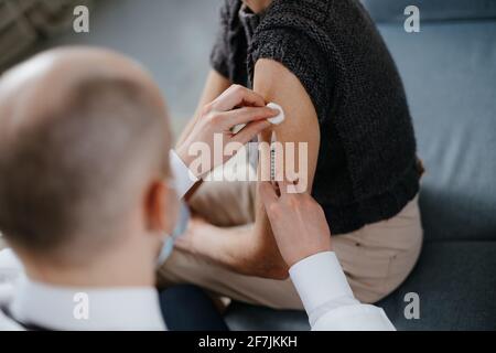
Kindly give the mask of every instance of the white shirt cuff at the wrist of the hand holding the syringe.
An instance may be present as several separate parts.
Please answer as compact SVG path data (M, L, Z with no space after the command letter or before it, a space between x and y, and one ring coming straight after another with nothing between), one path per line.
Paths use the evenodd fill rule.
M341 302L344 298L355 301L334 252L312 255L293 265L289 272L309 315L333 301Z

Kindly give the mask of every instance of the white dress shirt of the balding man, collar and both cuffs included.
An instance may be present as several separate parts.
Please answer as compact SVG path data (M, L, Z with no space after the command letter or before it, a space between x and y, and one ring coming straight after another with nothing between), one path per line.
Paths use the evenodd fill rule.
M197 179L174 151L170 160L177 194L183 197ZM56 288L20 274L15 255L10 249L0 252L0 306L8 302L11 314L24 323L58 330L165 330L153 288ZM355 299L334 253L299 261L290 268L290 276L312 330L395 330L382 309ZM74 317L77 293L89 299L88 320ZM19 328L0 312L0 330Z

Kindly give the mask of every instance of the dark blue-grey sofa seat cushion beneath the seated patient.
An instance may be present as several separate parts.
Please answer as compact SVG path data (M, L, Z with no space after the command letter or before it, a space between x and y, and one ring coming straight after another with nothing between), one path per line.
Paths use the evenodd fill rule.
M399 290L381 300L398 330L496 330L496 243L439 242L424 246L421 259ZM420 319L407 320L406 293L419 295ZM303 312L234 303L231 330L309 330Z

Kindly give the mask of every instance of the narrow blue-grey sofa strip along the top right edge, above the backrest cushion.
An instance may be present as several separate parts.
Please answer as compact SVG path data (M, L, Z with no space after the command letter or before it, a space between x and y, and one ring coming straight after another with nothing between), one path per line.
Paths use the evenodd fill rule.
M494 0L362 0L376 22L405 21L403 11L417 6L422 21L495 19Z

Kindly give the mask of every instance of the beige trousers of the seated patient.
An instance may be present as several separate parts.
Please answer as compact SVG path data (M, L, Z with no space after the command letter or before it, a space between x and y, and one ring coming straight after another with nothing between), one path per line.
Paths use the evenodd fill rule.
M192 208L218 226L254 222L255 183L208 182ZM333 247L356 298L376 302L393 291L412 270L422 246L418 199L388 221L333 237ZM325 274L322 274L325 276ZM276 309L303 309L291 280L244 276L202 258L174 250L159 269L159 287L195 284L219 296Z

